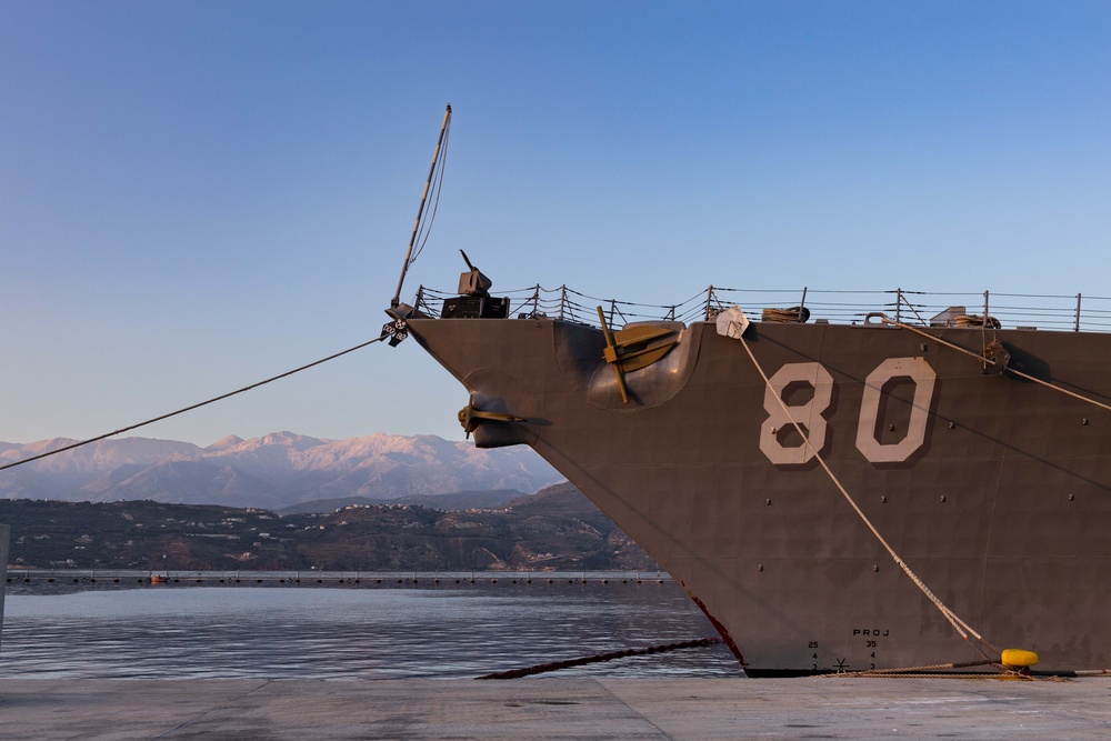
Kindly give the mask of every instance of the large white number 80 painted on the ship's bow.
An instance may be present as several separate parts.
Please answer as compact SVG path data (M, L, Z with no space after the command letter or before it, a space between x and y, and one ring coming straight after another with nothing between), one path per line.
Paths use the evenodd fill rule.
M875 437L877 418L883 385L893 379L910 379L914 383L907 434L898 442L882 443ZM925 425L933 407L933 388L938 374L925 358L888 358L864 379L857 421L857 450L872 463L900 463L910 458L925 442ZM781 403L783 391L792 383L807 383L814 393L803 404ZM768 418L760 430L760 450L777 465L798 465L809 462L815 450L825 447L829 425L824 414L833 400L833 377L821 363L787 363L769 379L764 390L764 411ZM787 407L784 411L783 407ZM790 412L790 415L788 415ZM807 430L811 445L799 441L784 445L779 432L790 427L791 418Z

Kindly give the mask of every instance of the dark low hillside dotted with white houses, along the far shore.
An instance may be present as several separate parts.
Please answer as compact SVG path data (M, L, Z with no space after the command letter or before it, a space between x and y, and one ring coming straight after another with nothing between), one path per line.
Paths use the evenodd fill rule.
M152 570L652 570L569 484L504 508L350 505L284 517L256 508L0 501L16 568Z

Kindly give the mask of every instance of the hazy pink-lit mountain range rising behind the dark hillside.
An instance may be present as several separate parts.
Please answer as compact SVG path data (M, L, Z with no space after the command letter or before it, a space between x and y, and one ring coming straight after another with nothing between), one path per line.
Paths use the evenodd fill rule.
M73 442L0 442L0 464ZM561 480L528 448L480 450L436 435L323 440L274 432L250 440L229 435L207 448L150 438L101 440L0 472L0 499L148 499L273 510L343 498L532 492Z

